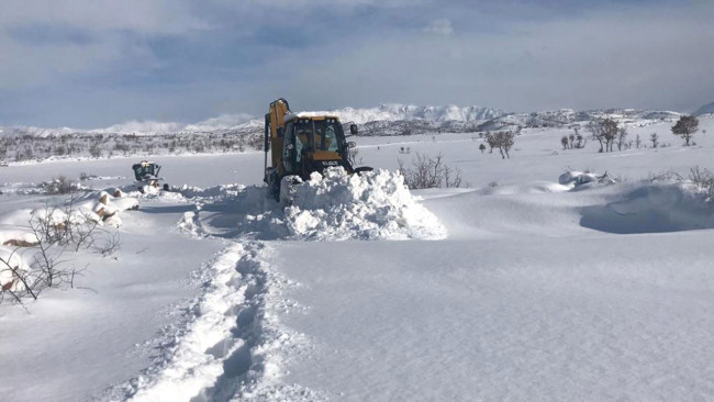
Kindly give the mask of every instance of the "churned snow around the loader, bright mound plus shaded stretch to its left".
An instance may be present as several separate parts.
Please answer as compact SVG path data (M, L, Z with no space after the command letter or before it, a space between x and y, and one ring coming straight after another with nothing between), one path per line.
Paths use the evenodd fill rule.
M342 168L313 174L283 206L265 187L185 189L197 210L178 223L192 235L252 235L261 239L437 239L446 230L412 196L404 178L379 170L348 176Z

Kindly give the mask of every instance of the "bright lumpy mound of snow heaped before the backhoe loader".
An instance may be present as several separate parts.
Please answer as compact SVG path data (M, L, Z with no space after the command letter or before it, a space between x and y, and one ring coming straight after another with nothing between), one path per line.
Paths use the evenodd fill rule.
M428 238L446 236L434 214L419 204L399 172L348 176L342 168L312 174L295 186L285 223L310 239Z

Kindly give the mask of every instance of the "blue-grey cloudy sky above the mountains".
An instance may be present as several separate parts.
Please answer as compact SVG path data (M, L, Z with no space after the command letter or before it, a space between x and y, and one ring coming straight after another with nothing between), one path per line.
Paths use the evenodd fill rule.
M2 0L0 125L714 101L712 0Z

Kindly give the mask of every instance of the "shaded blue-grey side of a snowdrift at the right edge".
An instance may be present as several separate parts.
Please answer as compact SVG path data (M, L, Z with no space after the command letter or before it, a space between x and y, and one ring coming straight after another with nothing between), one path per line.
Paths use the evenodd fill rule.
M580 224L633 234L714 228L714 204L692 183L638 186L622 200L581 210Z

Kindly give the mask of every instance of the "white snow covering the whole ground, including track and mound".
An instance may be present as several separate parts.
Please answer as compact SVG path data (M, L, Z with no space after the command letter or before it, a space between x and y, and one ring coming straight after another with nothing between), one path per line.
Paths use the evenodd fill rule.
M5 190L59 172L102 176L88 201L121 188L140 208L114 256L68 255L88 267L76 289L0 304L0 394L712 400L714 206L685 178L714 139L683 147L650 123L631 138L671 146L562 150L572 130L527 129L503 160L471 134L358 138L377 170L315 176L289 206L266 197L259 153L165 157L177 191L147 196L121 178L131 160L2 168L0 234L63 201ZM405 190L397 159L416 152L471 188ZM684 180L649 179L667 170ZM615 182L590 180L604 172Z

